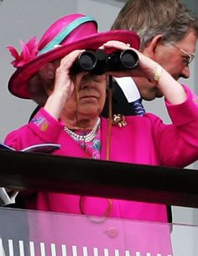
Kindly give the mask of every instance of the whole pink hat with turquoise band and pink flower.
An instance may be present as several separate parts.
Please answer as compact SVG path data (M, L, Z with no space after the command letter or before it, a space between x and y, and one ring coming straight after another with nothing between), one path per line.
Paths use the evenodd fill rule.
M28 91L28 81L46 63L64 57L73 50L97 49L109 40L119 40L139 48L138 35L128 30L113 30L97 32L96 21L80 13L74 13L58 19L46 30L39 41L36 38L27 44L21 42L22 52L8 46L15 58L12 64L17 70L8 82L8 90L21 98L31 98Z

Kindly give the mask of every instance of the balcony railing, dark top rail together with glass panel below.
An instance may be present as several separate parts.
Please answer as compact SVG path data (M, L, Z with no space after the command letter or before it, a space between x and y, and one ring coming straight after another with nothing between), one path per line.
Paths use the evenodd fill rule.
M0 151L0 185L198 205L198 171ZM198 227L0 208L0 256L194 256Z

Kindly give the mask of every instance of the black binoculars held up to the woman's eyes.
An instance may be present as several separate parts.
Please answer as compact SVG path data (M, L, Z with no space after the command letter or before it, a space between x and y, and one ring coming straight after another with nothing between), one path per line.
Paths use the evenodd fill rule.
M73 74L82 71L100 76L107 71L124 71L138 65L138 55L133 50L114 51L107 54L104 50L86 50L78 56L71 67Z

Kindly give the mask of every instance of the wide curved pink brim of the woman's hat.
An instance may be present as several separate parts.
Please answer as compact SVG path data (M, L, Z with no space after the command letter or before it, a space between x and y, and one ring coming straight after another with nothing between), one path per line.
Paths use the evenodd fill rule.
M98 49L102 44L110 40L122 41L125 44L130 44L134 49L139 48L139 37L133 31L128 30L112 30L108 32L102 32L92 34L91 36L70 43L56 47L54 50L50 50L42 55L38 55L34 60L29 61L27 64L18 67L17 71L13 73L8 81L8 90L16 97L23 99L30 99L28 91L29 79L39 71L39 69L46 63L63 58L73 50L86 50L86 49Z

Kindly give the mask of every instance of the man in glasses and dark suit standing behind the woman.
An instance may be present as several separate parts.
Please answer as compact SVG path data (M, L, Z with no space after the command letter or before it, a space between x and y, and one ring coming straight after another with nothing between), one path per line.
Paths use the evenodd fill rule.
M112 29L135 31L140 37L140 50L143 54L159 62L176 80L190 76L189 65L195 57L198 21L194 13L180 1L130 0L118 14ZM133 81L144 100L163 97L157 87L145 78L134 77ZM128 78L128 83L133 81ZM120 87L113 84L113 113L134 114L133 107L128 105L128 102L132 102L129 95L134 92L128 90L128 86L125 88L122 79L119 84ZM103 114L107 116L107 104Z

